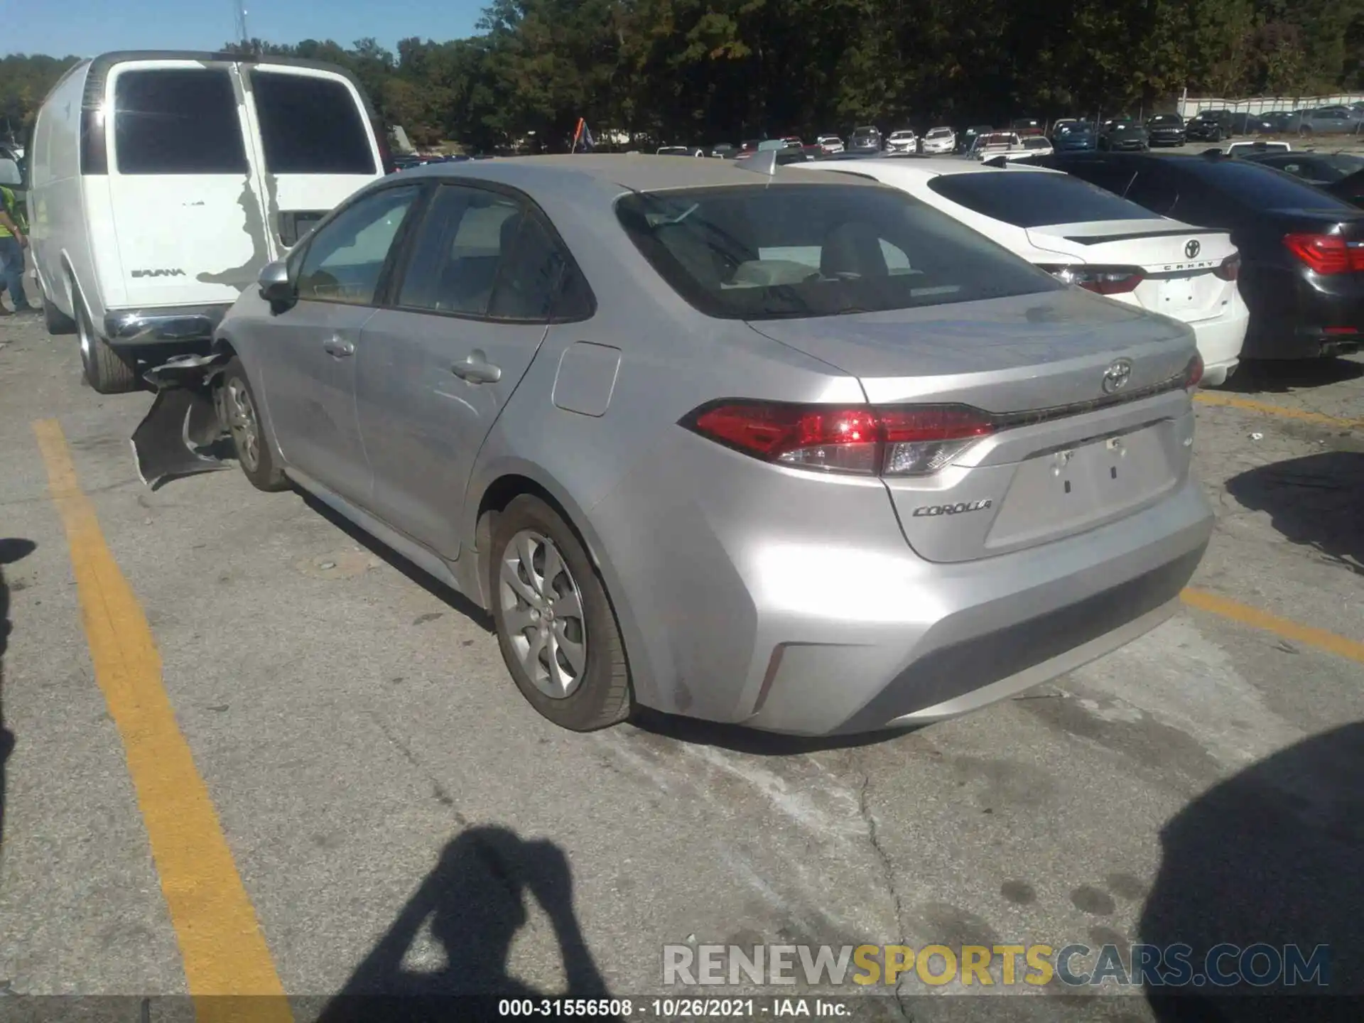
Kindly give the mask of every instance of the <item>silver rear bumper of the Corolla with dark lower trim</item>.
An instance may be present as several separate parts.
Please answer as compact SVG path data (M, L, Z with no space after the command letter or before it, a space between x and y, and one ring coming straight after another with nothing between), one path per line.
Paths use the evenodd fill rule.
M1213 528L1185 477L1116 522L934 563L878 480L812 479L690 436L655 454L591 513L611 537L603 574L629 610L636 696L790 734L962 713L1116 649L1172 612Z

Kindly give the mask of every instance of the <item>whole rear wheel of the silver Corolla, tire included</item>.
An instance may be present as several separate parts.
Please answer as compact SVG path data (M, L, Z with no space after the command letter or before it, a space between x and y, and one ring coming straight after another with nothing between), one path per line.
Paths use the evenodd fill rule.
M572 527L525 494L492 527L490 592L502 659L521 696L561 728L630 716L630 670L606 585Z

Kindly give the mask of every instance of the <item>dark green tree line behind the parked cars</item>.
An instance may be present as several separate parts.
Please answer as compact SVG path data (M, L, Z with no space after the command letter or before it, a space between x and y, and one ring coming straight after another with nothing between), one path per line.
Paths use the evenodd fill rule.
M1140 110L1364 86L1364 0L494 0L477 34L229 49L352 70L417 143L602 132L713 143L854 124ZM0 61L26 121L72 59Z

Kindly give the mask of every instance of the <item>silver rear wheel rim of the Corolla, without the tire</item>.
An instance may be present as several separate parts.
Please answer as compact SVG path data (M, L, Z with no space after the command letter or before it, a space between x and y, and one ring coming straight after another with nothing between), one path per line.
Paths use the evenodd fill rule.
M517 660L535 687L554 700L572 696L588 662L582 593L554 540L522 529L502 552L502 621Z

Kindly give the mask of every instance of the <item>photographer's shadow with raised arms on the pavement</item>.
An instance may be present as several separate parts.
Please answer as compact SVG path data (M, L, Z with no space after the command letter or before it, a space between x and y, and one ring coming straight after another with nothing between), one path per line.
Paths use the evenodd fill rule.
M528 919L528 898L540 903L554 926L567 990L537 990L507 973L512 941ZM402 960L427 921L446 962L420 973ZM473 1009L475 996L490 1004L608 997L573 911L569 861L552 842L527 842L495 827L460 833L318 1019L450 1019L457 1005Z

